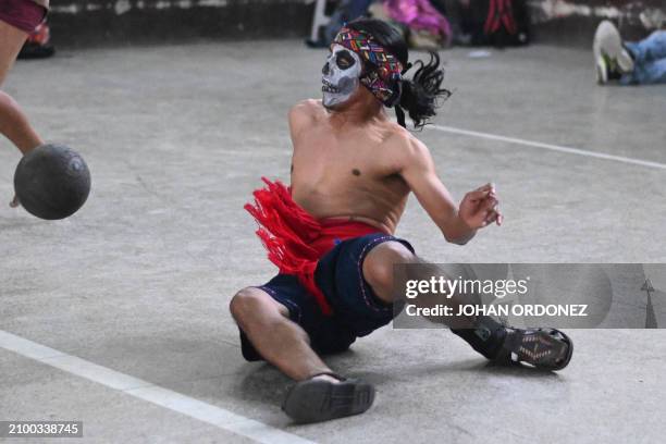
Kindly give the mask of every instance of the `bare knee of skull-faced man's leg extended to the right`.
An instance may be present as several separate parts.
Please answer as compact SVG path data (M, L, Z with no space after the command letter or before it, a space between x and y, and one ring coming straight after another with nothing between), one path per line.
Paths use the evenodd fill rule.
M399 242L382 243L366 256L362 268L363 278L375 293L385 293L393 286L393 266L411 263L415 259L414 252Z

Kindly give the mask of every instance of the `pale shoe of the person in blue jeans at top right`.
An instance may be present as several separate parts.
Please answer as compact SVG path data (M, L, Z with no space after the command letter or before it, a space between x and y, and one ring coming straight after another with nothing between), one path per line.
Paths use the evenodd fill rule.
M605 20L599 24L592 45L596 66L596 82L600 85L619 79L622 74L633 71L633 59L622 46L619 32L613 23Z

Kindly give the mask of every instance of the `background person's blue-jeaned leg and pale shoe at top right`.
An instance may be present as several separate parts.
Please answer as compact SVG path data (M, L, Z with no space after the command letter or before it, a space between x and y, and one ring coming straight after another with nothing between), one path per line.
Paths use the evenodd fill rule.
M594 34L596 82L605 85L666 83L666 32L655 30L641 41L622 41L609 21L603 21Z

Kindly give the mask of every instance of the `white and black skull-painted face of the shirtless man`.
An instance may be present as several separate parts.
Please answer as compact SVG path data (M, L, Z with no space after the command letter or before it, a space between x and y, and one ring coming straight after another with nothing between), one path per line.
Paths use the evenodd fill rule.
M333 108L349 100L358 89L362 67L362 61L356 52L337 44L331 47L331 53L321 70L321 90L325 108Z

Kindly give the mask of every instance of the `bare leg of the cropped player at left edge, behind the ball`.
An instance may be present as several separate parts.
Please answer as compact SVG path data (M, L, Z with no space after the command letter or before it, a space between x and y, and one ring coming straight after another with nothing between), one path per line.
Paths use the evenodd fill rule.
M16 55L26 38L27 33L0 21L0 87L14 65ZM9 138L24 155L44 144L44 140L30 126L18 103L1 90L0 134ZM10 206L18 206L18 199L15 196Z

